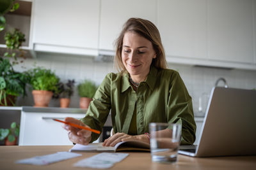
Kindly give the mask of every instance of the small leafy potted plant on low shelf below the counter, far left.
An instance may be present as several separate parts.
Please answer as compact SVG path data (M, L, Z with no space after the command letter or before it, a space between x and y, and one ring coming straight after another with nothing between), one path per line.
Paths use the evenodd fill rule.
M0 129L0 140L4 140L5 145L17 145L20 127L16 122L12 122L10 129Z

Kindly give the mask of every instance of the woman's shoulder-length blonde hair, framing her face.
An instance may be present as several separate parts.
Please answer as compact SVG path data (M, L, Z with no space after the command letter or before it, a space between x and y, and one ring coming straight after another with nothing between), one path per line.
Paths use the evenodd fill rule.
M123 39L126 32L136 32L143 38L148 39L153 45L154 51L156 52L156 59L152 60L152 64L161 69L167 67L164 48L161 42L160 33L152 22L149 20L144 20L141 18L129 18L125 22L122 32L118 36L115 42L116 46L116 55L114 57L115 67L118 71L125 71L125 66L122 62L122 48L123 48Z

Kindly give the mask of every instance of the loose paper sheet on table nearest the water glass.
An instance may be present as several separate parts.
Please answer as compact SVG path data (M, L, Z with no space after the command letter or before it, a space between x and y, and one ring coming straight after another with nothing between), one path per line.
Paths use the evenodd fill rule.
M79 160L74 166L105 169L112 167L116 162L120 162L128 155L129 153L99 153L93 157Z

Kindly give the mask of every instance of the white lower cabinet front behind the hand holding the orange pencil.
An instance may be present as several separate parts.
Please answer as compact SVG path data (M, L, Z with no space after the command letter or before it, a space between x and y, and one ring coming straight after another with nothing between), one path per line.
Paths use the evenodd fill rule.
M20 118L19 145L73 145L61 123L52 120L65 117L83 118L84 113L33 113L24 112Z

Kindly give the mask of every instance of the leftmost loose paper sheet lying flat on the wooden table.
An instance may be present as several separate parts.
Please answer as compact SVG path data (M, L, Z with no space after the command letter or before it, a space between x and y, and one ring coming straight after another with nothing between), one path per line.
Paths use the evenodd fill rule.
M37 166L43 166L43 165L51 164L54 162L59 162L61 160L67 160L67 159L72 159L74 157L79 157L81 155L82 154L72 153L72 152L57 152L57 153L52 153L49 155L31 157L29 159L17 160L15 163L16 164L32 164L32 165L37 165Z

